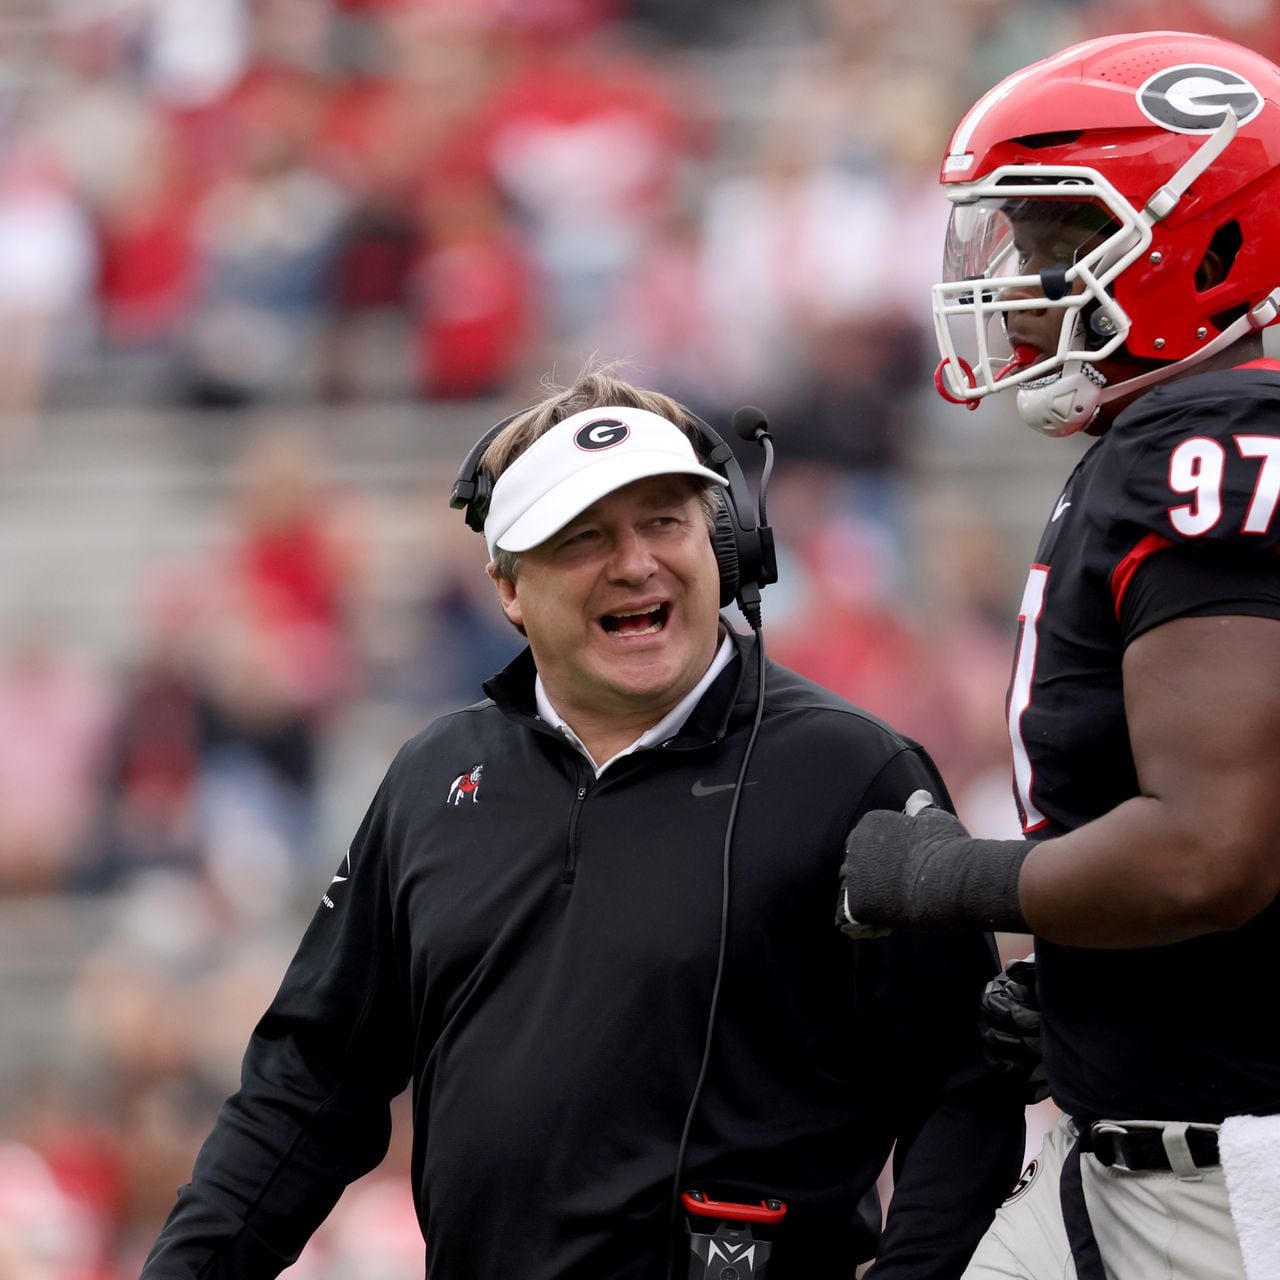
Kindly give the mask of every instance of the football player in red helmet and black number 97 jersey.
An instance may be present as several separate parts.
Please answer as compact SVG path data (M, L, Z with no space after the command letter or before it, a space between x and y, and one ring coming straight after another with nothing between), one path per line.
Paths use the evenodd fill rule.
M1076 45L982 97L941 180L938 390L1097 440L1019 613L1025 838L924 795L872 813L841 924L1036 934L1064 1119L969 1280L1236 1280L1220 1149L1280 1123L1280 69L1179 32Z

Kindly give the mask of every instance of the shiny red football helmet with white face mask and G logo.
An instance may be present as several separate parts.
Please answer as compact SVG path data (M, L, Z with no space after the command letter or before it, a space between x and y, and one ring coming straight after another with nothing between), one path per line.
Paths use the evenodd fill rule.
M1066 435L1280 317L1280 68L1239 45L1153 31L1034 63L969 110L941 182L947 399L1016 388L1030 425ZM1033 273L1037 237L1059 257ZM1211 250L1225 274L1199 273ZM1010 353L1001 330L1033 308L1061 311L1056 347ZM1121 346L1171 364L1107 385Z

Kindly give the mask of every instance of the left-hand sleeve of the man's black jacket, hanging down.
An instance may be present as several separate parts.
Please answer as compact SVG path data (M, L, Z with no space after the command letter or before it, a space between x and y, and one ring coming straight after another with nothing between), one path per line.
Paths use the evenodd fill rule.
M250 1039L142 1280L271 1280L390 1140L410 1074L392 948L385 785Z

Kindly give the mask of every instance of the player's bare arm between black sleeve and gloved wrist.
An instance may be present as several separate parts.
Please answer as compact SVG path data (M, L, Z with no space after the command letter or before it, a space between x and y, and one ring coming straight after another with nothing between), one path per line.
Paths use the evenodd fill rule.
M1236 928L1280 893L1280 620L1166 622L1124 686L1142 795L1029 851L1023 915L1074 946Z

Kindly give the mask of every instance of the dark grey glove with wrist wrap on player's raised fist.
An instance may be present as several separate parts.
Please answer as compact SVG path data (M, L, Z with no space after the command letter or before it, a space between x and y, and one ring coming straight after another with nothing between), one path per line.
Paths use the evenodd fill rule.
M874 809L849 833L836 923L855 938L888 928L1029 933L1018 902L1027 840L975 840L915 791L904 813Z

